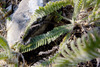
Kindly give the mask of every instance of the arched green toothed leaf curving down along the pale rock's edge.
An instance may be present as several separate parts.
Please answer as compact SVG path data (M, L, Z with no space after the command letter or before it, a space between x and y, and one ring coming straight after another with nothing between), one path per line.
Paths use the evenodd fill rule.
M25 34L24 34L23 38L26 36L31 24L33 24L37 20L37 18L42 18L44 16L47 16L48 14L50 14L50 13L52 13L54 11L57 11L62 6L66 6L68 4L70 4L70 2L56 1L56 2L49 2L44 7L39 7L39 9L37 9L35 11L35 13L31 16L30 23L26 27Z

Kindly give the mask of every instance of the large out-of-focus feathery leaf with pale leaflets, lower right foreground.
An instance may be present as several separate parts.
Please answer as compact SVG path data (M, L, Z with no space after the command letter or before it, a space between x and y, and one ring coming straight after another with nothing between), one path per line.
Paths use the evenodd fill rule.
M66 41L65 41L66 42ZM89 61L100 57L97 49L100 49L100 37L97 34L89 34L88 40L83 36L82 40L77 39L77 47L75 42L71 42L71 50L63 43L61 54L63 57L58 57L55 60L54 67L75 66L79 62Z

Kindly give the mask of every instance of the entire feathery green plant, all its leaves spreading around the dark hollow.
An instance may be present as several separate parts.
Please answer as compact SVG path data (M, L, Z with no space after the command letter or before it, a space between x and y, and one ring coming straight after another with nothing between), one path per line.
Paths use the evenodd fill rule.
M61 14L57 13L57 10L67 5L72 5L74 7L73 16L71 19L63 17ZM71 24L59 26L47 32L46 34L35 36L31 38L30 42L27 45L22 45L21 43L17 43L13 46L14 50L10 49L5 39L0 37L1 40L0 46L5 50L0 54L0 58L6 59L7 62L12 60L13 58L16 58L16 62L14 62L13 64L18 65L18 57L19 55L22 56L21 53L29 52L40 46L49 44L50 42L56 40L59 36L63 34L67 33L71 35L72 33L74 33L75 27L79 27L80 30L83 30L84 32L83 34L87 35L86 32L88 30L86 30L87 29L86 26L91 27L93 24L92 22L94 22L95 26L97 26L97 23L99 23L100 19L99 7L100 7L100 0L71 0L71 1L61 0L56 2L49 2L45 7L40 7L33 14L29 25L26 27L22 39L25 38L26 34L29 32L31 25L35 21L37 21L38 17L42 18L48 14L52 15L51 13L54 12L56 13L54 14L55 16L59 16L61 17L61 19L68 20L71 22ZM94 27L92 27L92 29L93 28ZM88 34L87 37L88 38L85 38L84 36L80 36L80 38L76 37L76 39L73 39L71 42L69 42L69 37L67 37L66 35L61 44L59 45L58 53L56 53L54 57L52 57L51 59L46 60L45 62L40 64L40 66L42 65L46 66L54 62L55 63L54 66L66 67L69 65L77 65L77 63L79 62L88 61L99 57L100 55L99 52L97 51L97 49L100 48L99 35L97 35L97 33L95 32L92 35ZM94 39L92 40L92 38ZM68 45L66 45L68 42L72 50L70 50L68 48ZM62 54L63 57L61 57L60 54Z

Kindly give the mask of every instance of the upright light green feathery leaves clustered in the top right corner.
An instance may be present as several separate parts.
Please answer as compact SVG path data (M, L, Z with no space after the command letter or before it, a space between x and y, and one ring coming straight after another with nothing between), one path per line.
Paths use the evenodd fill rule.
M89 22L92 22L92 18L96 18L94 16L97 16L95 14L97 14L96 11L99 10L98 8L100 7L99 0L74 0L74 13L72 17L73 23L77 22L76 19L81 11L87 11L87 9L91 7L93 8L93 10L91 10L91 13L87 12L88 17L85 17L85 19L88 19Z

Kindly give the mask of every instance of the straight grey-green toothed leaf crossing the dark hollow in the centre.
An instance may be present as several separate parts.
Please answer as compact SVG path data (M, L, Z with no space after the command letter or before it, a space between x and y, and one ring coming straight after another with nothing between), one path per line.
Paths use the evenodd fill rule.
M21 52L22 53L28 52L28 51L38 48L39 46L49 44L51 41L56 40L56 38L58 38L62 34L67 33L72 28L73 28L73 25L71 24L63 25L63 26L54 28L52 31L49 31L46 34L36 36L31 39L28 45L21 46Z

